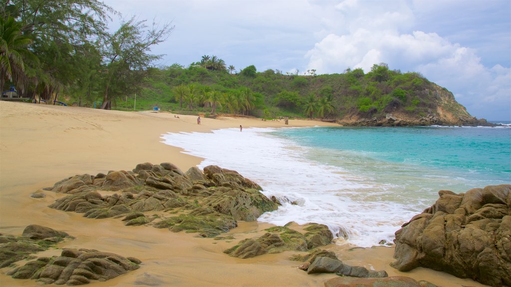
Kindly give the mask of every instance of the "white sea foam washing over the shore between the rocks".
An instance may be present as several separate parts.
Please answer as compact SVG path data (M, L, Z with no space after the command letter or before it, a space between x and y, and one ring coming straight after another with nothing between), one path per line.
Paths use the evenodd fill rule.
M311 158L332 157L328 150L298 146L275 129L214 130L211 133L169 133L162 142L204 158L199 168L215 164L238 171L281 202L258 219L283 226L294 221L327 225L338 244L360 247L392 242L394 232L430 201L407 200L367 175ZM312 156L311 156L312 154ZM340 156L336 155L335 157ZM399 188L398 188L399 189ZM425 193L430 193L425 190Z

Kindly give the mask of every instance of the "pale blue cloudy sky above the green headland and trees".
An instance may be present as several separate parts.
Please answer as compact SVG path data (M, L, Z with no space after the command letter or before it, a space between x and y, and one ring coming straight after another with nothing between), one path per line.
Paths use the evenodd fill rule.
M511 0L104 0L175 26L157 63L217 56L237 71L341 74L386 63L447 88L477 118L511 121ZM120 21L114 19L110 29Z

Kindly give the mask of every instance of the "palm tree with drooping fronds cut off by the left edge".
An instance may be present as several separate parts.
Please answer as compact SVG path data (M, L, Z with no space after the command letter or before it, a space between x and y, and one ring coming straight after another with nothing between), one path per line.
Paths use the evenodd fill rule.
M27 82L26 61L37 62L37 57L27 50L32 40L21 34L21 24L13 17L0 17L0 93L4 90L5 81L16 82L23 87Z

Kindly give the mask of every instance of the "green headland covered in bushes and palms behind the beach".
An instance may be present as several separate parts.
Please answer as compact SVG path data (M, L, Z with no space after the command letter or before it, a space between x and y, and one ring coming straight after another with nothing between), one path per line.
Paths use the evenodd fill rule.
M137 94L136 109L317 118L344 125L481 124L450 91L419 73L390 70L384 63L367 74L360 68L331 75L308 72L284 75L248 66L231 74L204 61L188 68L152 68ZM129 95L112 108L133 110L134 104Z

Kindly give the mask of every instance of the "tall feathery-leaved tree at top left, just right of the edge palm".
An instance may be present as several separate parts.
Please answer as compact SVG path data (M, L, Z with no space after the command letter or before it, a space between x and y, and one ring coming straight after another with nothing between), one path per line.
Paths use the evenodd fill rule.
M8 0L2 8L21 24L21 33L33 40L29 50L40 65L30 69L29 88L46 99L81 76L73 65L86 58L75 56L84 53L87 42L106 35L106 13L113 11L98 0Z

